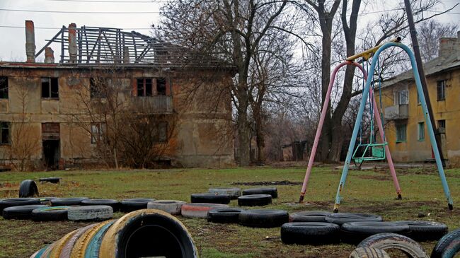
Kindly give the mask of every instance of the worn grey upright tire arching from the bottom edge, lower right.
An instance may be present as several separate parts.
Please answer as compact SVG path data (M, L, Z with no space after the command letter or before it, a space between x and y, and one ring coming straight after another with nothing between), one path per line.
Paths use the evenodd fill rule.
M423 248L414 240L394 233L380 233L372 235L360 242L358 247L374 247L380 250L398 249L408 257L428 258Z

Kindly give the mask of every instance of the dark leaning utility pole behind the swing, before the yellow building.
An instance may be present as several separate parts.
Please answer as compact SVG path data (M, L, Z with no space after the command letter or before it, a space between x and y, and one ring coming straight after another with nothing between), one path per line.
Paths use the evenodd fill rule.
M430 115L430 120L431 120L431 124L433 127L433 131L435 132L436 145L437 145L437 149L439 150L439 157L441 158L442 166L445 168L446 163L444 161L444 155L442 155L441 135L439 134L439 131L437 130L437 125L435 123L435 116L433 115L431 101L428 95L427 78L425 77L425 71L423 71L422 57L420 56L420 48L418 47L417 30L415 30L414 17L412 15L412 9L410 8L410 1L404 0L404 5L406 6L406 13L408 16L408 23L409 23L409 29L410 29L410 38L412 39L415 61L417 62L418 74L420 74L420 81L422 81L423 95L425 95L425 100L427 102L428 115Z

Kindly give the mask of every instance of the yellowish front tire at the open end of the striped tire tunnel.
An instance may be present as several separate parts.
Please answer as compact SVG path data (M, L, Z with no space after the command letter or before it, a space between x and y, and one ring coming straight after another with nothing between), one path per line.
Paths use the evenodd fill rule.
M99 257L197 257L187 228L164 211L143 209L128 213L107 230Z

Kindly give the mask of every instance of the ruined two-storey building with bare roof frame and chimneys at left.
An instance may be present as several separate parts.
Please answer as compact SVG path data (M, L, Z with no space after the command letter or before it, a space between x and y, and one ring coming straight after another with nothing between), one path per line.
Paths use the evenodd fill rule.
M234 163L233 67L134 31L74 23L36 52L33 26L25 21L27 61L0 62L0 168Z

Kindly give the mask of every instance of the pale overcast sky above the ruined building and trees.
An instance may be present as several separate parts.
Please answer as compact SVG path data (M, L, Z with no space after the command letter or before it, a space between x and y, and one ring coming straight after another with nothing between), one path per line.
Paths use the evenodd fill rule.
M372 7L369 11L387 9L389 2L397 4L399 0L387 0L384 7ZM401 0L402 1L402 0ZM438 11L460 0L442 0ZM38 52L56 33L62 25L76 23L92 27L122 28L136 30L149 35L149 25L158 24L159 6L166 0L0 0L0 60L25 61L25 20L35 23L35 45ZM29 12L28 12L29 11ZM30 11L64 11L73 13L36 13ZM78 12L152 12L152 13L78 13ZM460 6L452 12L438 16L442 22L459 23ZM427 13L432 14L432 13ZM19 28L6 28L8 26ZM42 29L40 29L42 28ZM51 28L51 29L44 29ZM54 45L54 58L59 60L59 45ZM39 57L38 61L42 61Z

